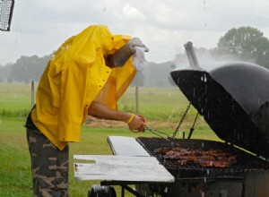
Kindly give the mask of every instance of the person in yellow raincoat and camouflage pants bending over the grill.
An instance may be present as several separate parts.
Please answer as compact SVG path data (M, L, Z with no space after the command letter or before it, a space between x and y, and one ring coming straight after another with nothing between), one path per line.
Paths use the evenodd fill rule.
M117 111L117 100L148 51L140 39L112 35L105 25L89 26L56 50L25 124L35 196L68 195L68 142L80 141L87 115L144 130L145 118Z

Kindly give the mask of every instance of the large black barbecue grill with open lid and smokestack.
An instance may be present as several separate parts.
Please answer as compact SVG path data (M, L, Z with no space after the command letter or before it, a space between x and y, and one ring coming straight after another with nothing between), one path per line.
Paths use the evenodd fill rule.
M269 181L269 71L244 62L220 64L205 71L192 43L185 47L191 67L172 71L171 77L223 142L137 138L175 176L175 184L168 186L164 196L269 196L265 184ZM223 150L235 156L236 163L230 167L178 165L177 159L155 151L175 147ZM187 183L192 186L186 190L183 185Z

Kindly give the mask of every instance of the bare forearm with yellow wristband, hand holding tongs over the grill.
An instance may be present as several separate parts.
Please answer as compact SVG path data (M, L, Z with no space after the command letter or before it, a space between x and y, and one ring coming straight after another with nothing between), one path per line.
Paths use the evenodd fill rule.
M96 101L92 101L91 106L88 109L88 115L100 119L126 122L131 130L138 130L139 132L144 131L145 119L143 116L138 116L126 112L119 112L105 107Z

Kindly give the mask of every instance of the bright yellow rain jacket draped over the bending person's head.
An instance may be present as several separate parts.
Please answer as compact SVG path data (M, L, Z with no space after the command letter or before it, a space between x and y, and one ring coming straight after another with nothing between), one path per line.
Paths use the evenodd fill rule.
M59 150L68 141L80 141L81 125L93 100L117 109L135 69L132 58L111 69L104 56L114 54L129 39L113 36L107 26L94 25L67 39L51 57L39 81L31 119Z

